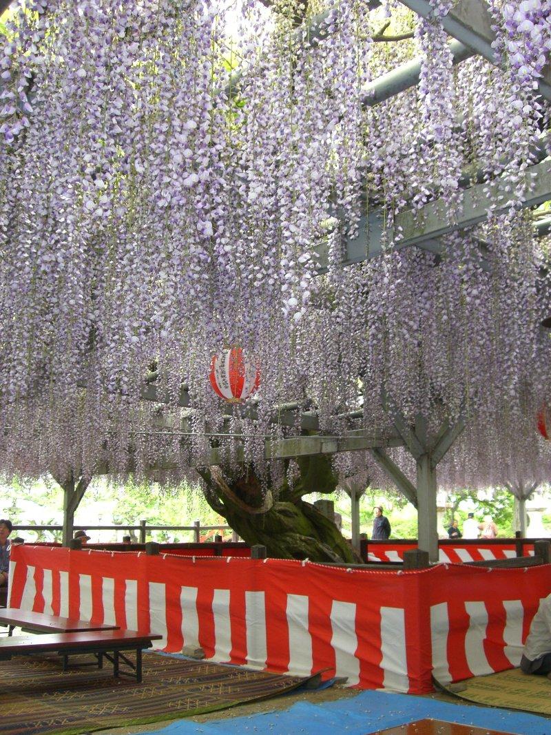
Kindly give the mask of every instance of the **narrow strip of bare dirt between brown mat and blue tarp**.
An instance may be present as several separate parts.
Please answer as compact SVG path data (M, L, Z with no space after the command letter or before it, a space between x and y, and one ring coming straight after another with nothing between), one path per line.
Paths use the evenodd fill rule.
M200 714L197 717L186 717L193 723L207 723L214 720L226 720L228 717L247 717L253 714L263 714L266 712L289 709L296 702L310 702L311 704L322 704L323 702L334 702L339 699L351 699L359 695L358 689L349 689L346 686L331 686L330 689L322 689L321 691L302 690L300 692L282 695L273 699L261 700L259 702L251 702L242 704L229 709L221 709L217 712L209 712L209 714ZM414 696L414 695L411 695ZM469 705L465 700L458 699L444 692L434 692L426 695L430 699L436 699L441 702L450 702L453 704ZM102 730L100 735L134 735L137 733L145 733L156 730L179 722L178 720L163 720L162 723L151 723L150 725L136 725L130 728L115 728L113 730Z

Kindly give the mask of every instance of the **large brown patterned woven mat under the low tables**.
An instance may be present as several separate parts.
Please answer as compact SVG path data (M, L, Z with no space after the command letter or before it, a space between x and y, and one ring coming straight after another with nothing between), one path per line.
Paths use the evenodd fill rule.
M0 671L0 735L69 735L172 720L274 697L308 681L155 654L144 656L142 684L115 679L109 664L63 673L61 659L52 656L2 661Z

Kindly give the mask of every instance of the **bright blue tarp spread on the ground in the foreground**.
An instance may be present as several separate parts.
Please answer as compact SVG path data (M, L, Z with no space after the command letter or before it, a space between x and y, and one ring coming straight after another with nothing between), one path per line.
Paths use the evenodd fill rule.
M322 704L300 702L284 711L231 717L210 723L181 720L155 731L155 735L367 735L422 720L423 717L477 725L514 735L551 735L551 720L535 714L372 691L360 692L350 699Z

